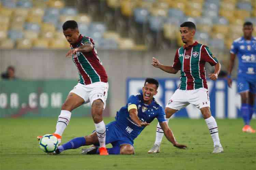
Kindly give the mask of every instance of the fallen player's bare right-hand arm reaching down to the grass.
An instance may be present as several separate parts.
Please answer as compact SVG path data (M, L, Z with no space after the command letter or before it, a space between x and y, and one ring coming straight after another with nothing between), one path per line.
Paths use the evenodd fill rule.
M160 124L160 126L163 130L163 133L165 134L165 137L172 143L172 145L174 147L177 147L177 148L180 148L180 149L186 149L187 148L186 145L181 145L176 141L172 131L170 130L170 128L168 127L168 124L166 122L161 122L159 124Z

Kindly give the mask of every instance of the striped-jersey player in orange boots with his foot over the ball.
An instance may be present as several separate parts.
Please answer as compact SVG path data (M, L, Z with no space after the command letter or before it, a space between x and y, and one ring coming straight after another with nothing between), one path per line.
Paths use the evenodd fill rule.
M91 115L99 140L100 155L108 155L105 147L106 128L102 112L106 106L108 95L108 76L97 54L94 41L90 37L79 34L76 21L69 20L63 23L63 34L70 43L70 50L66 57L72 57L79 73L78 84L70 91L56 124L56 136L61 142L61 136L68 126L71 111L82 104L91 104ZM42 136L38 136L40 139Z

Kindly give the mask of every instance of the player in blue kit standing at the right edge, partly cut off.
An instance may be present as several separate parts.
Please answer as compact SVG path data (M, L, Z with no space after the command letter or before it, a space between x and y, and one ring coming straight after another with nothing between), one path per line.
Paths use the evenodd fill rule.
M230 65L228 67L228 86L231 87L231 72L236 55L238 57L237 86L241 96L241 113L244 120L243 132L255 133L250 126L254 112L256 95L256 37L252 36L252 22L243 24L243 37L234 40L230 50Z

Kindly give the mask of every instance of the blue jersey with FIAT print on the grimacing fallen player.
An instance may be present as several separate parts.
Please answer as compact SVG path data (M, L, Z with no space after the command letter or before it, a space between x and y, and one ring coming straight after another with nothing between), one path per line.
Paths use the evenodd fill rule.
M166 121L163 108L154 98L151 104L148 105L143 102L143 95L141 93L130 96L126 106L122 107L119 112L117 112L115 122L118 129L131 140L134 140L145 127L139 127L131 120L128 112L128 106L130 104L135 104L137 106L138 117L143 122L150 123L154 118L157 118L158 122Z

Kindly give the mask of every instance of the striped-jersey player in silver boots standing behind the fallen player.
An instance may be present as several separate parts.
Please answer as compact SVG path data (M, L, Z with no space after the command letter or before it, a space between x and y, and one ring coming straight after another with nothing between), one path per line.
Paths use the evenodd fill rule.
M210 100L205 78L205 62L215 66L214 73L209 74L211 80L217 80L221 64L215 58L209 48L194 41L196 26L193 22L184 22L180 26L181 39L185 45L177 49L172 66L165 66L153 57L152 65L161 70L176 74L181 70L181 82L179 88L174 92L165 108L167 122L169 118L180 109L193 104L200 109L213 140L213 152L223 152L219 141L218 127L210 111ZM153 148L148 153L160 151L160 143L163 131L159 124L156 128L156 140Z

